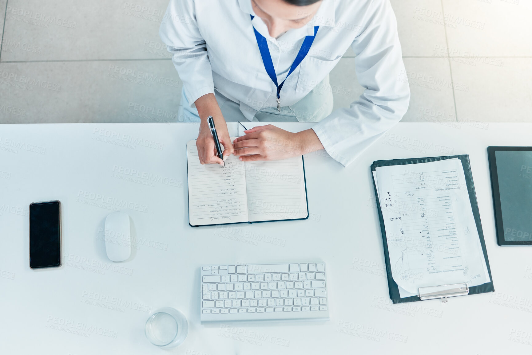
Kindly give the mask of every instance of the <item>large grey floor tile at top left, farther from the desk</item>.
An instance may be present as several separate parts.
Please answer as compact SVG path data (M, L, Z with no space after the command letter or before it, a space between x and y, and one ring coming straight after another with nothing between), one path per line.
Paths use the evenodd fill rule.
M169 58L159 38L168 0L134 3L9 0L2 61Z

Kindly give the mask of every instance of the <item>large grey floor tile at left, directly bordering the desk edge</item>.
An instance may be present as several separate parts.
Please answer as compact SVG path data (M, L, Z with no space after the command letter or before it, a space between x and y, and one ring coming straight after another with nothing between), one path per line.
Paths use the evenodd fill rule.
M1 123L178 122L169 60L0 64Z

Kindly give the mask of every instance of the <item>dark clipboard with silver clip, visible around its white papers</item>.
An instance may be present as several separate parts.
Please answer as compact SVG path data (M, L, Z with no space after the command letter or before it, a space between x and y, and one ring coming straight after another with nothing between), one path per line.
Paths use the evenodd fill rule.
M452 284L452 285L434 285L434 286L419 288L419 294L417 296L401 298L397 283L394 281L393 276L392 276L392 266L390 265L390 256L388 253L388 240L386 238L386 230L385 230L385 225L384 225L383 212L380 208L380 200L378 198L379 194L377 191L377 184L375 183L375 176L373 175L373 172L375 172L376 168L380 166L430 163L430 162L437 162L439 160L454 159L454 158L460 159L462 166L463 166L464 175L465 175L465 183L467 185L467 190L469 193L469 200L471 202L471 209L473 212L473 217L475 217L475 224L477 226L478 237L480 239L480 245L484 253L484 259L486 260L486 267L488 269L488 275L489 275L490 282L487 282L487 283L484 283L478 286L471 286L471 287L469 287L465 283ZM422 300L429 300L429 299L438 299L438 298L446 302L447 298L449 297L495 291L493 287L492 272L491 272L491 269L489 268L488 253L486 251L486 243L484 241L484 234L482 231L482 225L480 223L480 213L478 210L478 202L477 202L477 195L475 193L475 185L473 184L473 175L471 173L471 166L469 163L469 155L464 154L464 155L415 158L415 159L376 160L371 165L371 175L373 179L373 189L375 189L375 196L378 202L377 211L379 214L380 230L381 230L381 234L383 237L384 259L386 263L386 275L388 278L388 289L390 293L390 299L392 300L394 304L405 303L405 302L415 302L415 301L422 301Z

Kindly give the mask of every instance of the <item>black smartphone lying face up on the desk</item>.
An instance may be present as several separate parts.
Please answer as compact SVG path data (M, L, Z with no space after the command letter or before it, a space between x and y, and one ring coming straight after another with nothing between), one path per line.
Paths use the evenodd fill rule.
M30 267L61 266L61 202L30 204Z

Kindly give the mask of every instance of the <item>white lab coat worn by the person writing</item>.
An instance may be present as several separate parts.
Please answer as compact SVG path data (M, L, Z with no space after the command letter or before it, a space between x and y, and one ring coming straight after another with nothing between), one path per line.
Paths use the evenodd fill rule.
M327 153L347 166L401 120L410 89L389 0L323 0L309 24L278 39L269 36L259 16L252 21L250 14L255 15L251 0L170 0L160 36L173 54L191 107L201 96L214 94L214 88L239 103L250 121L257 111L277 107L277 88L264 69L252 26L268 40L279 83L304 37L320 26L309 54L281 90L281 105L305 97L351 46L365 90L350 107L313 126Z

